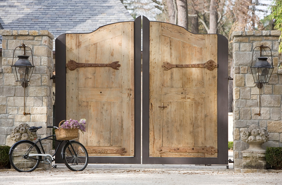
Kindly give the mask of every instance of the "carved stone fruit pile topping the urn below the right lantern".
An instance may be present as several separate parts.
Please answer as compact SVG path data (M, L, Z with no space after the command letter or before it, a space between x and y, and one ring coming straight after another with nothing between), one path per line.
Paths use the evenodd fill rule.
M259 128L252 124L243 134L242 140L246 143L264 143L268 141L268 132L264 128Z

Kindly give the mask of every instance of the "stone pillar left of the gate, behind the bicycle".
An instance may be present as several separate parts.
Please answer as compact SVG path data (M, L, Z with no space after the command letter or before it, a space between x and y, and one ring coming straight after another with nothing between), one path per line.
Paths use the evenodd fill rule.
M3 73L0 74L0 145L13 145L10 139L13 128L26 123L29 126L42 126L38 134L46 137L52 134L52 68L53 68L53 39L54 36L47 30L0 30L2 40ZM13 51L17 46L25 44L33 52L35 65L28 87L25 88L25 112L23 115L24 88L15 82L12 74ZM26 55L31 52L26 50ZM16 50L14 62L23 51ZM31 61L31 57L29 57ZM31 61L32 63L32 61ZM52 141L44 143L46 153L52 150Z

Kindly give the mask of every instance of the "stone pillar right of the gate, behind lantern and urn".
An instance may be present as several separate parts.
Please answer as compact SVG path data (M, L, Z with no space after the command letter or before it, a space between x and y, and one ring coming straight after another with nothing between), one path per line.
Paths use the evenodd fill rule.
M234 140L234 169L242 168L242 150L249 145L243 142L243 131L251 124L265 128L270 134L269 141L262 147L282 147L282 119L281 94L282 75L278 74L278 38L280 31L236 31L232 34L233 40L233 140ZM264 85L260 92L254 84L251 73L252 52L256 46L268 46L273 56L273 73L268 85ZM269 49L265 49L270 56ZM262 54L266 56L264 50ZM259 56L259 48L254 51L253 64ZM271 58L271 57L270 57Z

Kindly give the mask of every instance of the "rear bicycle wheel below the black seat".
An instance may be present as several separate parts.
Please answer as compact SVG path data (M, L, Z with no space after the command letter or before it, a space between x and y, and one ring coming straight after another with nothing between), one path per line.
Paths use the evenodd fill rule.
M39 148L31 141L17 142L11 148L9 155L12 167L19 172L31 172L39 165L41 156L30 156L29 154L41 154Z

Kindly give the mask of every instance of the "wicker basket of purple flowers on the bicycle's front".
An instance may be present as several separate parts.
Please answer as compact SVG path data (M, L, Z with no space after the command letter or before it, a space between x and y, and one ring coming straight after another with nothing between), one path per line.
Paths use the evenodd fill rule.
M61 121L59 128L55 130L57 140L70 140L78 137L78 129L82 133L86 132L85 124L86 119L80 119L80 121L73 119Z

